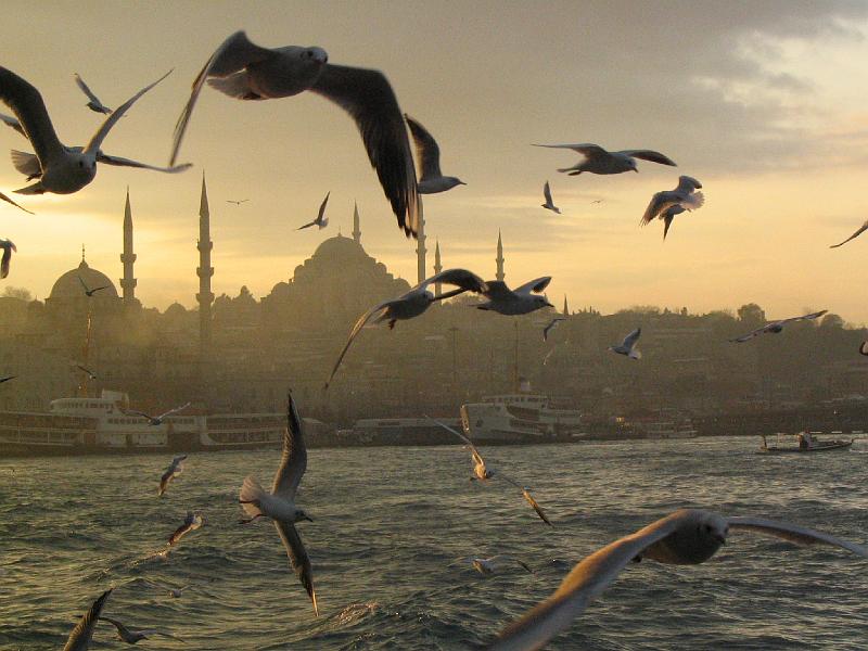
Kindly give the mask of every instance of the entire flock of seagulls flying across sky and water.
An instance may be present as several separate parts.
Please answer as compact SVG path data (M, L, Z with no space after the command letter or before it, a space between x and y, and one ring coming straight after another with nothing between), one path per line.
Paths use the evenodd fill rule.
M168 74L166 73L145 86L114 110L103 104L85 81L76 75L76 84L88 98L87 106L105 117L86 145L68 146L61 142L54 131L39 91L15 73L0 67L0 101L14 113L14 117L2 115L0 119L24 136L34 150L34 153L12 151L14 167L27 178L28 182L35 181L15 192L25 195L46 192L56 194L77 192L93 180L98 163L167 174L177 174L188 169L191 165L189 163L178 164L177 158L196 101L206 84L226 95L244 101L286 98L310 91L322 95L347 112L359 129L369 161L392 206L397 225L408 238L418 234L422 218L422 194L445 192L463 184L463 181L457 177L442 174L439 146L436 140L418 120L401 113L395 92L381 72L330 64L327 52L317 47L263 48L250 41L244 31L237 31L227 38L208 58L194 79L190 97L175 127L167 166L149 165L104 153L101 149L102 144L114 126L133 103L165 79ZM417 177L407 135L408 128L416 144L419 177ZM582 159L578 163L559 170L569 176L577 176L583 173L612 175L638 171L637 161L648 161L666 166L676 165L668 156L651 150L610 152L592 143L540 144L537 146L569 149L580 154ZM651 197L641 224L647 225L654 219L662 220L665 239L677 215L703 205L704 196L699 191L701 188L702 183L695 178L680 176L674 190L661 191ZM5 194L0 193L0 199L26 210ZM554 205L548 181L544 186L544 208L560 214L560 208ZM230 203L241 205L246 201L246 199L230 200ZM322 201L317 218L299 227L299 230L312 226L322 229L328 225L328 218L324 215L328 201L329 194ZM600 201L597 200L592 203ZM851 238L834 246L841 246L865 230L868 230L868 221ZM9 275L11 255L16 248L10 240L0 240L0 247L3 250L0 277L5 278ZM484 296L485 302L476 305L478 309L508 316L529 314L544 307L552 307L544 294L550 281L551 277L547 276L510 289L500 281L484 281L467 269L449 269L427 278L404 295L371 307L358 319L324 388L328 388L333 380L356 336L371 322L373 324L385 322L390 328L394 328L397 321L419 317L435 302L462 292L474 292ZM438 283L450 284L456 289L435 296L429 288ZM104 289L90 289L84 281L81 284L88 296L93 296L95 292ZM824 314L825 310L774 321L731 341L742 343L764 333L778 333L790 322L816 319ZM562 318L556 318L546 326L542 331L544 339L548 337L550 330ZM640 334L641 328L637 328L621 344L610 346L609 349L638 360L641 358L641 353L636 348L636 344ZM868 354L868 346L863 344L860 352ZM88 369L80 368L92 375ZM0 381L9 379L11 378ZM188 405L156 417L138 411L128 411L128 414L143 417L150 424L157 425ZM467 436L443 423L438 424L460 437L471 450L473 480L485 482L496 476L495 471L486 465L478 449ZM179 456L171 461L161 478L159 495L168 489L174 477L182 471L184 459L186 456ZM308 593L315 613L318 614L312 564L295 527L299 521L311 521L305 511L295 503L298 485L306 468L307 452L303 421L298 416L292 395L290 395L283 454L272 488L270 492L265 489L253 477L244 480L239 502L246 518L241 522L250 524L264 518L275 523L286 549L290 564ZM498 476L503 477L502 474L498 474ZM552 524L531 495L527 486L507 477L503 478L522 492L522 496L540 520L548 525ZM167 550L177 545L184 535L201 527L203 523L204 519L201 514L188 512L184 522L169 537ZM573 620L582 614L588 603L605 590L630 561L653 559L662 563L702 563L717 552L731 531L737 529L776 536L801 545L835 546L868 558L868 549L861 546L800 525L758 518L727 518L703 510L680 510L615 540L584 559L548 599L508 626L489 648L498 650L542 648L554 635L566 629ZM495 559L472 559L472 562L480 572L490 572ZM155 633L135 631L117 620L103 616L102 612L111 592L111 589L103 592L81 617L69 635L64 647L65 651L87 649L100 620L105 620L114 625L118 637L129 643L146 639L149 635Z

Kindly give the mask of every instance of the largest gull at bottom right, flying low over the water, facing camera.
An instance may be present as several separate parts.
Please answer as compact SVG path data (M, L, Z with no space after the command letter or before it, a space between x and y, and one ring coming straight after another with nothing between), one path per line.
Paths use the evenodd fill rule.
M868 549L860 545L797 524L764 518L726 518L711 511L681 509L585 558L548 599L507 627L488 649L541 649L566 629L630 561L649 558L661 563L695 565L712 558L729 532L738 529L783 538L797 545L841 547L868 558Z

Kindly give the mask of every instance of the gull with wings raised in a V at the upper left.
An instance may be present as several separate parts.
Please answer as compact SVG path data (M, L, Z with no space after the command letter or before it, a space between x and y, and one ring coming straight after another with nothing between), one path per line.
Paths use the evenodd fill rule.
M171 71L169 71L170 73ZM18 171L26 167L29 177L39 180L26 188L15 190L20 194L42 194L54 192L56 194L72 194L77 192L97 176L97 162L110 165L127 165L131 167L148 167L135 161L116 156L106 156L100 151L100 145L105 137L120 119L124 113L145 92L165 79L169 73L145 86L116 111L113 111L90 139L86 148L69 148L64 145L54 132L51 118L46 110L42 95L30 84L18 77L15 73L0 67L0 100L2 100L22 125L24 133L36 149L36 156L26 152L12 152L12 162ZM38 164L36 166L34 164ZM181 171L190 167L179 165L163 171ZM158 169L158 168L151 168Z

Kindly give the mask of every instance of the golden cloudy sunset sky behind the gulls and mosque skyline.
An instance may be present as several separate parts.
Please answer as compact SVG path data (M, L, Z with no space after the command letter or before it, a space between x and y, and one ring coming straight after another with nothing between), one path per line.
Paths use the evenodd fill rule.
M238 29L386 75L401 110L437 139L444 173L468 183L424 199L429 268L438 240L445 267L492 278L501 231L507 282L552 276L549 298L565 294L574 309L755 302L769 317L809 307L868 322L858 282L868 235L829 248L868 218L866 2L17 2L4 12L2 65L40 90L67 145L101 122L74 73L114 106L174 69L102 148L165 165L190 84ZM27 149L11 129L0 138ZM653 149L678 167L569 177L557 168L577 154L531 146L563 142ZM0 205L0 237L18 248L4 282L43 298L85 244L117 284L129 187L137 296L192 307L203 171L216 294L267 295L322 240L352 231L354 202L368 253L416 281L416 244L353 120L328 100L241 102L206 89L179 161L194 167L101 166L76 194L21 196L35 216ZM664 242L662 224L639 220L680 174L702 181L706 202ZM560 216L540 207L546 180ZM0 156L0 190L25 184ZM295 231L329 191L329 228Z

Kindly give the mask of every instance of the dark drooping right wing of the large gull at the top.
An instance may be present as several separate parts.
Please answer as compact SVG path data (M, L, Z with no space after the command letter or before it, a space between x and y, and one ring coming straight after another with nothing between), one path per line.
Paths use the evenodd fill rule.
M353 116L371 165L409 238L419 231L422 202L404 116L388 80L379 71L326 64L310 90Z

